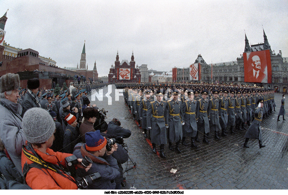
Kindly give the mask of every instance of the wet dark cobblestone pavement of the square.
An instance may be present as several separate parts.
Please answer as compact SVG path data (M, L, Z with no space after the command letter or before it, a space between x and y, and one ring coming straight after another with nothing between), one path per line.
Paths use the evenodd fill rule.
M108 99L105 94L112 91ZM95 98L103 97L103 101ZM115 101L115 85L109 85L88 96L91 105L108 110L106 121L113 117L121 121L121 126L130 129L132 135L125 140L129 156L137 167L126 173L125 189L287 189L288 183L288 120L277 121L281 106L281 94L275 94L276 112L262 121L262 137L265 148L259 149L258 140L249 140L250 148L243 148L246 131L197 143L198 149L180 145L181 154L165 146L166 159L152 153L151 143L145 139L141 128L133 120L123 95ZM117 94L117 93L116 93ZM95 100L95 101L94 101ZM110 103L109 103L110 100ZM117 100L117 98L116 98ZM109 105L111 104L112 105ZM285 105L286 111L287 104ZM287 114L285 115L287 119ZM202 140L202 135L199 136ZM157 150L160 150L156 146ZM128 161L128 168L132 163ZM177 169L176 173L170 173Z

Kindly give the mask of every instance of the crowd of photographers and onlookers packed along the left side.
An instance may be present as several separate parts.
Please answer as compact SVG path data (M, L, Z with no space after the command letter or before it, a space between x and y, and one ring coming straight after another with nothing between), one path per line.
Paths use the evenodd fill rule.
M107 84L20 88L18 74L0 78L0 189L121 189L131 131L87 97ZM81 88L85 86L85 88ZM101 106L101 105L99 105Z

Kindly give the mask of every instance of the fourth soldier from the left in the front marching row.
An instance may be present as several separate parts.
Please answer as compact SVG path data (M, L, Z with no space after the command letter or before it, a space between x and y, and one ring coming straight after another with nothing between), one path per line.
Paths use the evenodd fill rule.
M209 119L207 115L207 109L208 109L208 100L207 100L207 95L208 95L207 90L202 91L202 97L197 101L196 105L196 122L197 122L197 133L200 131L201 133L204 134L203 137L203 142L209 144ZM196 140L197 140L196 135Z

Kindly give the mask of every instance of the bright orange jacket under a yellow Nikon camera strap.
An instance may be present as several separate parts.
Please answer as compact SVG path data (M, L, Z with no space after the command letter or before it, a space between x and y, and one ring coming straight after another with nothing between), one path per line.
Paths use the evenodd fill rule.
M52 149L48 148L46 150L46 152L49 154L44 154L43 152L37 150L37 149L34 149L35 152L37 152L37 154L46 162L50 162L50 163L53 163L53 164L57 164L58 160L57 158L59 159L60 163L62 165L65 165L65 157L69 157L71 156L72 154L67 154L67 153L62 153L62 152L54 152ZM31 154L32 152L29 151ZM57 158L56 158L57 157ZM33 161L31 161L30 159L28 159L23 151L22 151L22 156L21 156L21 164L22 164L22 169L23 169L23 166L25 163L28 163L28 164L31 164L33 163ZM45 172L43 172L43 171ZM66 190L74 190L74 189L77 189L77 185L70 181L68 178L66 177L63 177L61 176L60 174L50 170L50 169L47 169L48 172L50 173L50 175L53 177L51 177L49 175L49 173L46 171L46 169L38 169L38 168L31 168L27 175L26 175L26 184L28 186L30 186L32 189L45 189L45 190L48 190L48 189L53 189L53 190L56 190L56 189L66 189ZM67 176L66 174L64 174L65 176ZM73 178L73 177L71 177ZM58 185L55 183L55 181L58 183Z

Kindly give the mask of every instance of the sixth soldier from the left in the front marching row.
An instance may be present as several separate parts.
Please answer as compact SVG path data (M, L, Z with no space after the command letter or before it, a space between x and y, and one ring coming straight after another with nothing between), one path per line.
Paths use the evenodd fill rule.
M227 127L227 122L228 122L228 113L227 113L227 108L228 108L228 95L229 91L228 90L223 90L223 96L219 99L219 123L222 129L222 136L227 136L225 133L226 127ZM235 114L234 114L235 116Z

